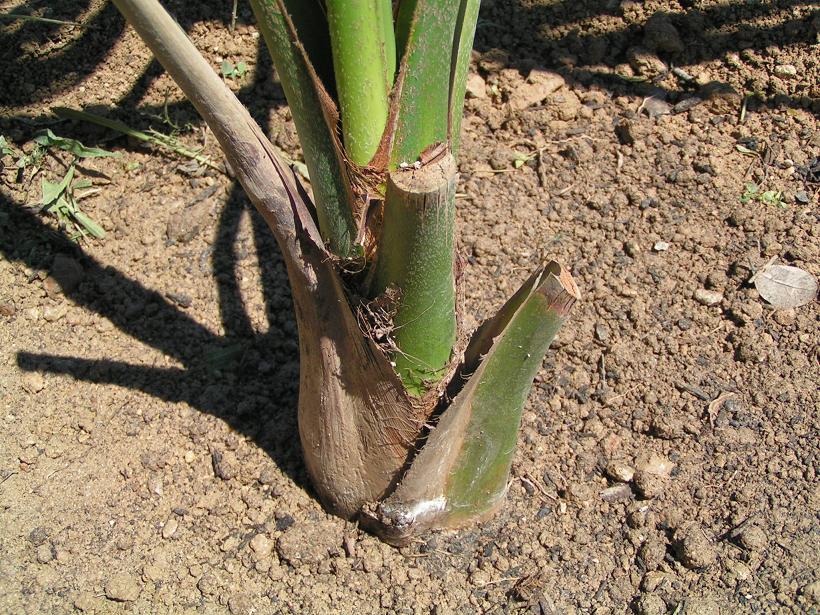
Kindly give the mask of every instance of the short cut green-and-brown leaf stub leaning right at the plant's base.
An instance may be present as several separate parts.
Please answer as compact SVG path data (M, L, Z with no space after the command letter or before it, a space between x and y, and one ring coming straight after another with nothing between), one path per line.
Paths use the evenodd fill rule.
M473 336L468 380L396 491L366 522L405 544L429 527L492 513L507 491L521 413L544 354L578 290L557 263L541 267Z

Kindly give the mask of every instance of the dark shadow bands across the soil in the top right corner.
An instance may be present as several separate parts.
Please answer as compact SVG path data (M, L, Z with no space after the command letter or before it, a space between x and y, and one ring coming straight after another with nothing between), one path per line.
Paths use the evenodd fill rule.
M660 58L671 66L693 65L724 58L741 51L770 55L772 48L789 45L810 46L816 42L818 10L792 10L807 7L803 0L731 2L699 7L698 0L680 0L682 12L649 14L642 3L572 2L553 3L485 2L479 16L475 49L505 52L507 66L526 72L533 65L560 72L570 82L595 83L615 94L645 94L657 88L614 74L619 64L627 64L631 47L642 46L647 22L662 18L672 24L683 43L676 52L660 50ZM631 8L630 5L632 5ZM637 15L629 15L629 11ZM785 12L787 18L778 17ZM604 29L606 22L607 31ZM749 89L755 90L754 87ZM778 95L758 92L778 104L805 107L816 104L808 95Z

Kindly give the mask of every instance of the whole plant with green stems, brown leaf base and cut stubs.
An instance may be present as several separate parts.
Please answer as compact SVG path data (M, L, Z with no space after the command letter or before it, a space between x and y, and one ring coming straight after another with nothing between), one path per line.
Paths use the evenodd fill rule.
M251 0L310 191L157 0L114 0L210 126L286 263L299 434L333 513L403 544L504 501L578 290L555 262L461 325L457 154L479 0Z

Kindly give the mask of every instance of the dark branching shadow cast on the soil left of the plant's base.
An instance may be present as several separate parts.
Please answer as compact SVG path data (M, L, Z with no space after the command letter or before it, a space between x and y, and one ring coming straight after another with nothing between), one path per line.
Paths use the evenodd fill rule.
M257 60L257 81L269 78L272 69L262 46ZM267 125L269 108L256 109L262 126ZM231 188L219 214L210 254L224 336L214 335L168 297L84 254L32 210L7 196L6 200L10 201L7 229L0 235L0 252L6 258L44 269L49 267L49 255L77 258L85 271L83 283L72 287L66 285L69 280L58 277L64 295L182 364L162 368L20 352L20 369L65 374L80 381L140 390L164 401L185 402L251 438L294 482L307 488L296 422L298 340L287 273L273 234L238 184ZM264 334L254 330L236 276L239 262L249 256L247 246L237 241L245 212L251 217L261 268L269 324ZM137 317L133 315L135 305L140 306Z

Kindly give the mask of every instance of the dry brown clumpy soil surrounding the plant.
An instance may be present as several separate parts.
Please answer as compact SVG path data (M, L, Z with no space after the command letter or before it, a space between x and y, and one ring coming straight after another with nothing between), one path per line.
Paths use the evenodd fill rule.
M246 3L166 5L275 144L298 143ZM820 608L817 5L485 0L460 162L475 325L545 256L582 301L527 403L507 504L403 549L301 462L281 259L221 170L87 123L213 137L111 4L2 2L0 134L81 161L107 232L4 157L0 612L804 613ZM752 190L748 184L758 188ZM765 196L764 196L765 194Z

